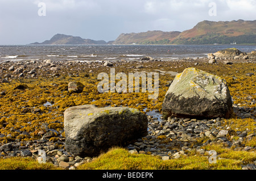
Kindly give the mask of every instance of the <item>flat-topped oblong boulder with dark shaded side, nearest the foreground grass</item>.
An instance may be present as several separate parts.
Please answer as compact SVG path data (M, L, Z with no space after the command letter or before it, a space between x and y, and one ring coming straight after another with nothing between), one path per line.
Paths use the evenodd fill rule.
M147 116L134 108L69 107L64 112L65 149L81 157L97 156L146 136L147 124Z

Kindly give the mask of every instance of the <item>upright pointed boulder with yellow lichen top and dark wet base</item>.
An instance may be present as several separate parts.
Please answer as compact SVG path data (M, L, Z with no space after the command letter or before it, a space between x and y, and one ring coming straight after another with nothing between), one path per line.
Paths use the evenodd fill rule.
M226 81L195 68L177 74L163 101L164 118L229 118L232 99Z

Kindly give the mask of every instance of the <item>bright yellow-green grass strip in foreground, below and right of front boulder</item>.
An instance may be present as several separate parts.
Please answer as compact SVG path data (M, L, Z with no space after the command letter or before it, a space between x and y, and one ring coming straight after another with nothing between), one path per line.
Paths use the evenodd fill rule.
M101 154L92 162L79 166L80 170L238 170L245 162L255 160L255 153L230 151L214 146L218 155L217 163L209 163L209 155L182 155L178 159L163 161L161 157L147 154L130 154L126 149L113 148ZM222 148L222 149L221 149ZM213 149L213 147L208 148ZM237 156L235 156L237 155Z

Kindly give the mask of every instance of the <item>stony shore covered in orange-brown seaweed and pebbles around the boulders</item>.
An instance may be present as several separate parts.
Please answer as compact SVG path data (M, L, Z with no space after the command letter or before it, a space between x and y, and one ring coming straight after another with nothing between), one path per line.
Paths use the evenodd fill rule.
M221 77L230 78L226 81L231 88L235 117L244 121L244 125L241 123L241 127L234 128L234 121L227 125L228 121L220 117L202 120L168 117L164 120L163 117L153 114L147 116L148 135L126 148L130 153L160 155L162 159L177 159L180 155L190 152L203 155L205 149L202 149L202 146L211 144L222 144L233 150L255 151L255 145L247 146L245 142L255 140L256 60L244 56L236 59L214 57L215 62L209 62L210 59L212 58L133 62L121 60L113 61L112 64L105 64L105 61L51 60L1 62L0 157L38 159L39 151L44 150L47 162L64 169L76 169L94 158L81 158L65 150L64 110L86 103L99 107L129 106L138 108L145 114L154 110L159 115L164 94L174 78L168 71L180 73L189 67L205 69ZM110 66L116 68L117 72L160 70L159 98L144 102L143 94L138 94L135 100L133 97L123 97L128 96L126 94L115 93L119 96L116 100L99 95L95 89L97 74L102 71L109 73ZM80 93L71 94L67 90L68 82L75 79L85 80L85 89ZM240 86L243 87L242 92L237 91ZM143 111L145 109L148 111ZM246 127L249 125L246 121L250 121L253 127ZM254 165L243 167L255 169L255 164L254 161Z

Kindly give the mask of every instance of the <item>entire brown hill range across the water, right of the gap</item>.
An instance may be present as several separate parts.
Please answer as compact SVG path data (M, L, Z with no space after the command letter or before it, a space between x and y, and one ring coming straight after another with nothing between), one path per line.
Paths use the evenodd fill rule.
M210 22L204 20L183 32L122 33L113 44L256 44L256 20Z

